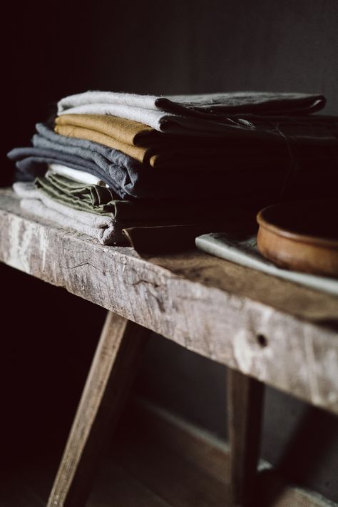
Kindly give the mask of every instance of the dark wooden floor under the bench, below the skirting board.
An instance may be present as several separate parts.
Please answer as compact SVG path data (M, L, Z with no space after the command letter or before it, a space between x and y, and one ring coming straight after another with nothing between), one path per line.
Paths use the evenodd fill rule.
M228 487L217 474L177 454L170 441L133 421L120 425L98 473L87 507L220 507L229 504ZM140 424L138 424L140 423ZM21 466L1 476L1 507L46 506L58 457Z

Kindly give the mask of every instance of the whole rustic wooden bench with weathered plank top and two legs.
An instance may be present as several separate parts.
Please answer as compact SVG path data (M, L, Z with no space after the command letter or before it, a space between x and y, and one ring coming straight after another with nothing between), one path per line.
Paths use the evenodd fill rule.
M48 507L83 507L149 330L228 369L233 503L255 488L264 385L338 413L337 298L198 250L140 257L24 215L0 190L0 260L108 310Z

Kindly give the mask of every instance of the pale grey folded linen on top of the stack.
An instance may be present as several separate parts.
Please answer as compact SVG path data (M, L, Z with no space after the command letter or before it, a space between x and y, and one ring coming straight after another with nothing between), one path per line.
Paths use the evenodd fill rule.
M62 98L58 115L110 114L144 123L155 130L183 135L249 135L277 138L275 126L262 127L235 116L304 115L319 111L322 95L306 93L232 92L203 95L150 96L87 91ZM234 118L231 118L233 116Z

